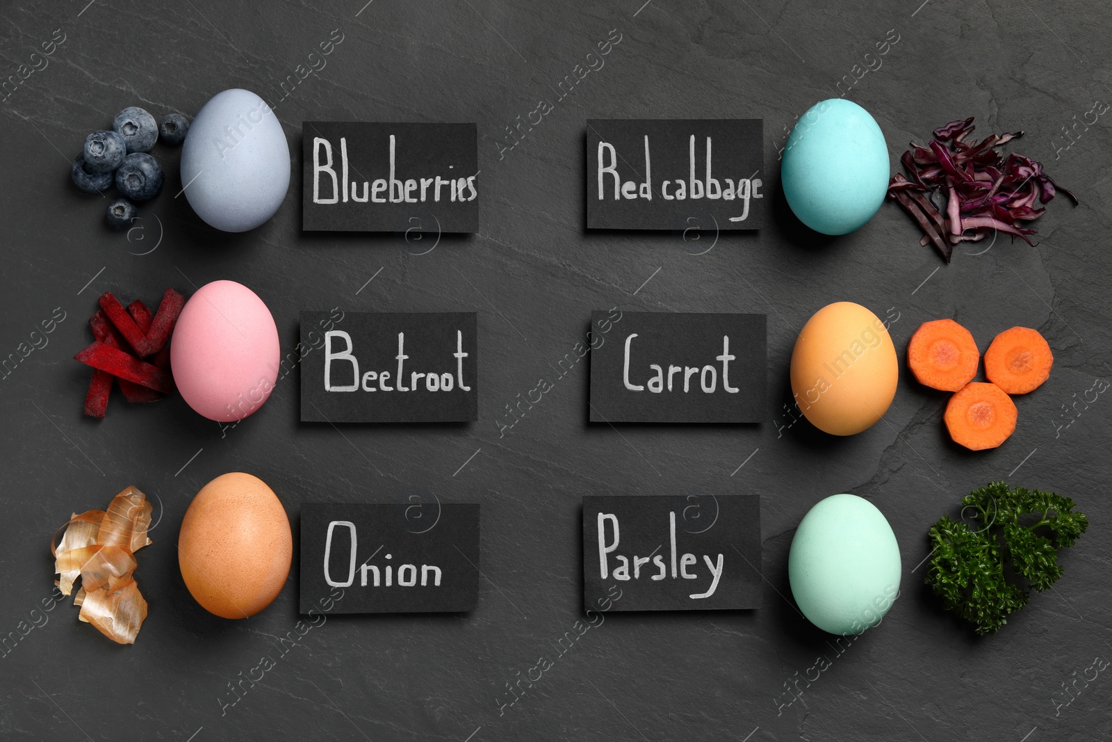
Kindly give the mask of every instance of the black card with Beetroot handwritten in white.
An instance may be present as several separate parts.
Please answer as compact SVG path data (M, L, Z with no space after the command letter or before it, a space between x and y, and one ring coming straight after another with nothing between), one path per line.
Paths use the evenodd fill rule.
M474 311L301 313L301 422L478 419Z

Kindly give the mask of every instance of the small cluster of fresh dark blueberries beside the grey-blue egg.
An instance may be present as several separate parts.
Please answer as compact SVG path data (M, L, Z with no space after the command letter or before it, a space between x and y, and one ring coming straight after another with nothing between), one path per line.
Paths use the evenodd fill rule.
M108 205L108 224L121 229L136 216L135 201L149 201L162 190L162 167L148 155L161 137L180 145L189 119L168 113L162 123L141 108L131 106L116 115L111 131L93 131L73 160L73 184L87 194L102 194L113 185L123 198Z

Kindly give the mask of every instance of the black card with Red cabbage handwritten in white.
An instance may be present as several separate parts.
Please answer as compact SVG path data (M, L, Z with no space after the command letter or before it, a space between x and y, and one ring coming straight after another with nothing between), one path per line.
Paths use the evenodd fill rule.
M588 229L759 229L762 119L588 119Z

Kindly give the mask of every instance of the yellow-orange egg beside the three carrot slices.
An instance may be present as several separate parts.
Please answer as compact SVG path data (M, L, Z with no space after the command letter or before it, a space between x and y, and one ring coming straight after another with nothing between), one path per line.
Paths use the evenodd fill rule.
M880 317L860 304L836 301L800 330L791 374L795 402L812 425L833 435L855 435L887 412L900 363Z

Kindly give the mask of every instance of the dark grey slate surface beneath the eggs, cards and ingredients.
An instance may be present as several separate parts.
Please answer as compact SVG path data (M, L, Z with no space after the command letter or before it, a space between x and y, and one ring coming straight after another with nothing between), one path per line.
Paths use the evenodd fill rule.
M0 355L28 342L54 307L66 319L0 383L0 632L39 624L0 659L0 735L195 742L1112 735L1112 679L1082 680L1094 672L1086 672L1094 657L1112 655L1105 489L1112 400L1102 394L1088 407L1078 402L1112 373L1110 133L1106 115L1081 123L1094 100L1112 97L1108 6L642 2L3 4L0 79L18 76L21 63L40 69L9 83L0 102ZM48 62L32 58L59 28L66 40ZM324 68L299 79L298 65L319 67L308 55L332 29L342 41ZM600 58L604 66L578 79L576 66L589 69L586 56L612 29L620 41ZM898 41L876 56L890 29ZM856 80L866 66L872 70ZM282 98L278 86L287 76L292 92ZM578 81L558 99L565 76ZM694 241L692 234L685 240L678 231L585 233L588 117L762 117L772 167L793 117L837 95L840 82L843 91L853 82L848 96L872 111L893 162L907 140L975 115L982 136L1024 129L1014 149L1044 161L1081 206L1064 198L1051 204L1037 222L1037 247L1001 239L981 255L973 254L981 248L956 250L950 266L919 246L917 230L891 204L846 237L808 233L787 211L775 170L759 233L723 234L716 243ZM306 119L476 121L481 231L445 237L431 250L428 238L407 243L401 235L304 235L294 186L268 224L218 234L175 198L177 150L161 145L155 155L167 186L141 208L141 233L129 240L107 230L110 199L86 197L69 182L69 159L85 135L126 106L143 106L156 118L192 113L230 87L275 105L294 152ZM550 105L539 106L542 99ZM546 112L530 117L538 110ZM515 140L506 127L538 116L508 149ZM1072 140L1065 126L1075 126ZM219 278L246 283L267 301L284 352L297 340L301 308L479 311L479 422L302 425L296 373L278 382L259 413L225 431L180 398L140 407L116 395L105 421L82 417L89 372L70 358L91 339L86 319L97 295L155 301L167 286L192 291ZM941 421L945 396L906 373L883 422L862 435L834 439L806 423L788 427L781 405L790 397L795 334L837 299L896 317L901 357L915 327L933 317L955 316L982 348L1012 325L1037 327L1055 353L1054 373L1019 400L1019 429L989 453L950 444ZM767 422L589 425L586 363L566 363L563 376L554 369L577 357L590 310L612 306L766 313ZM507 405L540 377L552 388L522 406L524 417L510 417ZM1075 403L1080 416L1068 416ZM272 485L295 527L304 501L391 502L418 487L444 502L481 503L486 578L478 607L455 616L336 616L300 635L295 572L256 617L206 614L178 574L177 527L192 495L235 469ZM1034 595L999 635L977 640L940 611L921 583L922 567L914 568L927 554L927 526L956 513L962 494L997 478L1073 496L1092 526L1064 556L1065 576L1054 591ZM50 534L71 511L103 507L128 484L157 496L161 517L137 573L150 617L138 642L120 647L80 624L68 601L49 613L33 609L51 594ZM685 487L761 495L764 607L609 613L559 655L557 640L583 619L579 498ZM793 528L811 505L837 492L866 496L885 513L904 561L903 594L884 623L841 654L796 614L786 578ZM287 635L299 639L284 643ZM817 655L828 666L804 689ZM499 710L515 698L507 683L529 675L540 656L549 660L540 680ZM221 713L236 698L228 683L260 672ZM785 683L796 680L802 698L781 706L792 698ZM1055 716L1054 699L1070 698L1063 682L1078 690Z

